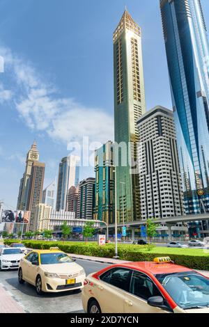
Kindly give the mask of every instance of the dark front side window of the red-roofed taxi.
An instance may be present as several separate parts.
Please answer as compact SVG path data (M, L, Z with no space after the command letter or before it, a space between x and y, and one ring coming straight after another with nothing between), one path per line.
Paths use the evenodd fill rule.
M133 272L130 293L139 296L139 298L144 298L144 300L148 300L152 296L162 296L153 281L139 271Z

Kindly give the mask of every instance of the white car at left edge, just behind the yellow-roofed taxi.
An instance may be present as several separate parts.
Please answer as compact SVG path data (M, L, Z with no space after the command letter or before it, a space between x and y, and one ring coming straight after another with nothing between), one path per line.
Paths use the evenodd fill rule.
M1 248L0 249L0 271L6 269L18 269L20 260L24 253L20 248Z

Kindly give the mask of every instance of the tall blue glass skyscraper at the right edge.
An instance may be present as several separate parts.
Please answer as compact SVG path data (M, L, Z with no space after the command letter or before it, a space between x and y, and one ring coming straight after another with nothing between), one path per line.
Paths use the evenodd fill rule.
M160 0L186 214L209 212L209 56L200 0Z

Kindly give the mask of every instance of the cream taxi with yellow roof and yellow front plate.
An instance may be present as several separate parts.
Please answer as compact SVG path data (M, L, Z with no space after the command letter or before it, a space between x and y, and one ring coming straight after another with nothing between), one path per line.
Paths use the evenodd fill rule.
M31 251L20 260L18 270L20 284L29 282L38 294L82 289L85 277L82 266L57 248Z

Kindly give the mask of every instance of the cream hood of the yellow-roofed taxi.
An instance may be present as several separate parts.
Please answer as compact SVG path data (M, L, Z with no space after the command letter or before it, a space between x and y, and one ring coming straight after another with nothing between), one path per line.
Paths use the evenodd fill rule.
M75 262L68 262L65 264L42 264L42 269L47 273L68 274L78 273L83 269L83 267Z

